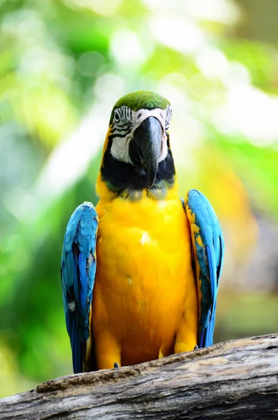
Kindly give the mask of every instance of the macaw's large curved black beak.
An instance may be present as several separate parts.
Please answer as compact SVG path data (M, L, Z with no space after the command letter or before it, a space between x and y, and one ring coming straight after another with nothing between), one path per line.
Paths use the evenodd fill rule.
M130 160L133 165L146 168L149 188L153 186L158 172L162 134L162 127L158 119L148 117L134 131L130 141Z

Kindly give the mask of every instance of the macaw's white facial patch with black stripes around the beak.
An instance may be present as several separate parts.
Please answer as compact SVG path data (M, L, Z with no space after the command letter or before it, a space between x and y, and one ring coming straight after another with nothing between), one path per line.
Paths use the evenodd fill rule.
M128 111L127 111L128 110ZM164 160L167 156L167 135L166 130L169 126L171 118L171 107L168 105L166 109L139 109L139 111L131 111L127 106L121 106L118 110L117 120L113 121L113 141L111 146L111 154L113 158L121 162L130 163L129 146L133 137L133 133L141 123L148 117L155 117L162 127L162 144L161 153L158 162ZM126 133L126 135L125 135ZM117 135L118 134L118 135Z

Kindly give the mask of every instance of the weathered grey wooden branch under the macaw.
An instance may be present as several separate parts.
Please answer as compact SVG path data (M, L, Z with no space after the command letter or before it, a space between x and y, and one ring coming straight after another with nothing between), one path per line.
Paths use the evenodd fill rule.
M278 335L70 375L0 400L0 419L277 419Z

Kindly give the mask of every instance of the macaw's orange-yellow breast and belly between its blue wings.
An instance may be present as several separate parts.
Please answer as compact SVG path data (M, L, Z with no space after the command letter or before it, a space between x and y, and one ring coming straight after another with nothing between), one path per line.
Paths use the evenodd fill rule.
M173 353L186 295L195 288L190 230L176 187L165 200L101 199L97 214L95 342L113 337L111 349L104 339L102 351L120 349L122 365L158 358L161 349Z

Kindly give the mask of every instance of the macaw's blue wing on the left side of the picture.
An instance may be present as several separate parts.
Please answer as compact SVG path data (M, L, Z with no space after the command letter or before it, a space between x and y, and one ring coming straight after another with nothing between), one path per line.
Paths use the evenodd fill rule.
M83 372L92 346L90 309L95 282L97 228L97 212L90 202L84 202L71 215L64 235L62 294L74 373Z

